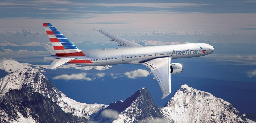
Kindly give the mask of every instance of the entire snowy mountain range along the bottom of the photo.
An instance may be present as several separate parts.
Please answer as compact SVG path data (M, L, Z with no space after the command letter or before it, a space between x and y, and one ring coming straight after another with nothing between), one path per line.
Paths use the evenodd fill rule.
M36 68L3 59L0 69L8 72L0 79L0 122L254 122L229 102L186 84L163 108L147 88L125 101L86 104L68 98Z

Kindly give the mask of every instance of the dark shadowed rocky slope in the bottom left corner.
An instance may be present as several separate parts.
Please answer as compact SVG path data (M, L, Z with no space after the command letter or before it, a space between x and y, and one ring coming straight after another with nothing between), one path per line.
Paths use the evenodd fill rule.
M65 113L59 105L38 92L11 90L0 97L0 122L88 123L85 117Z

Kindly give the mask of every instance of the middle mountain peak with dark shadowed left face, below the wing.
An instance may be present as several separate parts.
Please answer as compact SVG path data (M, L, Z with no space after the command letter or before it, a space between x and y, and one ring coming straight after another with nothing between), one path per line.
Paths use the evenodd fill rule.
M109 115L111 114L111 115ZM146 88L135 92L125 101L111 103L94 120L97 122L173 122L165 119Z

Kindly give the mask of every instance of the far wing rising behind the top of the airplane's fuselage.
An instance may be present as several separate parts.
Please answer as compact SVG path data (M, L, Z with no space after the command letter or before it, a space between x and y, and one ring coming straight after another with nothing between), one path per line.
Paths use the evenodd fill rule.
M93 30L96 30L96 29L93 29ZM143 46L143 45L140 45L140 44L138 44L138 43L129 41L129 40L127 40L127 39L118 37L118 36L116 36L116 35L107 33L107 32L102 31L102 30L96 30L96 31L98 31L98 32L100 32L100 33L106 35L107 37L111 38L113 41L117 42L118 44L120 44L121 46L124 46L124 47Z

